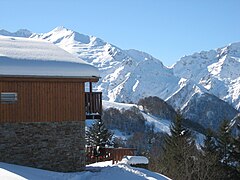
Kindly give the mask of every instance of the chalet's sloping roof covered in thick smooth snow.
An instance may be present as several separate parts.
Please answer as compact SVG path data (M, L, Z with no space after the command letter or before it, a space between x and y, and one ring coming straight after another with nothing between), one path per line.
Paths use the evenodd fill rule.
M0 76L99 77L97 68L43 40L0 36Z

